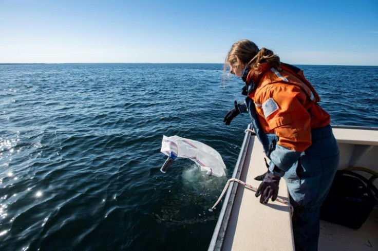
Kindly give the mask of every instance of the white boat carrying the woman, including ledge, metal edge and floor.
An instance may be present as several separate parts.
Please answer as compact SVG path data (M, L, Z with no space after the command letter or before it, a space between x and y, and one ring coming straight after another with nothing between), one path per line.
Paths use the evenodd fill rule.
M251 129L251 125L248 127ZM338 169L358 166L378 172L378 129L333 127L341 158ZM255 187L253 178L266 172L262 145L251 131L244 136L232 178ZM366 173L360 173L366 176ZM369 176L367 176L369 177ZM283 180L282 180L283 181ZM285 182L278 196L289 200ZM376 185L376 182L375 182ZM259 203L254 192L233 182L224 198L209 250L294 250L289 206L277 201ZM376 207L360 229L322 221L319 250L378 250Z

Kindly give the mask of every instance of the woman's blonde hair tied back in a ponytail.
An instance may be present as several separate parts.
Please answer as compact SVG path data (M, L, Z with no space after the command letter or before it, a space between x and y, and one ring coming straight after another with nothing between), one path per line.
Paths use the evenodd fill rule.
M260 74L260 66L268 63L277 70L280 70L279 57L273 51L261 48L248 39L242 39L235 42L224 62L224 71L228 66L248 67L254 74Z

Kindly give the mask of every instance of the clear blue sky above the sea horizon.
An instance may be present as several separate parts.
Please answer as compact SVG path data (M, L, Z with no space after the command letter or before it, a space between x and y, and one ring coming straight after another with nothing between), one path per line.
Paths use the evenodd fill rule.
M291 64L378 65L378 1L0 0L1 63L222 63L243 38Z

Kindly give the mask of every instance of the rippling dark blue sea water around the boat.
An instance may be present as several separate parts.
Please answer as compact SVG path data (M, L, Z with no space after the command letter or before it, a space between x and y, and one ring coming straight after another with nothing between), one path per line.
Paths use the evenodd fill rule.
M378 67L300 67L332 124L378 127ZM221 64L0 65L0 249L206 250L242 86ZM228 176L187 159L162 174L163 135L210 145Z

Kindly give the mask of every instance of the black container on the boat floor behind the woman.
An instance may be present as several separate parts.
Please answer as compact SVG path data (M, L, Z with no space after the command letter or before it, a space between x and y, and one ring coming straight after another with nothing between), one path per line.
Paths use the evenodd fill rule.
M358 229L377 204L378 190L360 174L339 170L320 207L320 219Z

